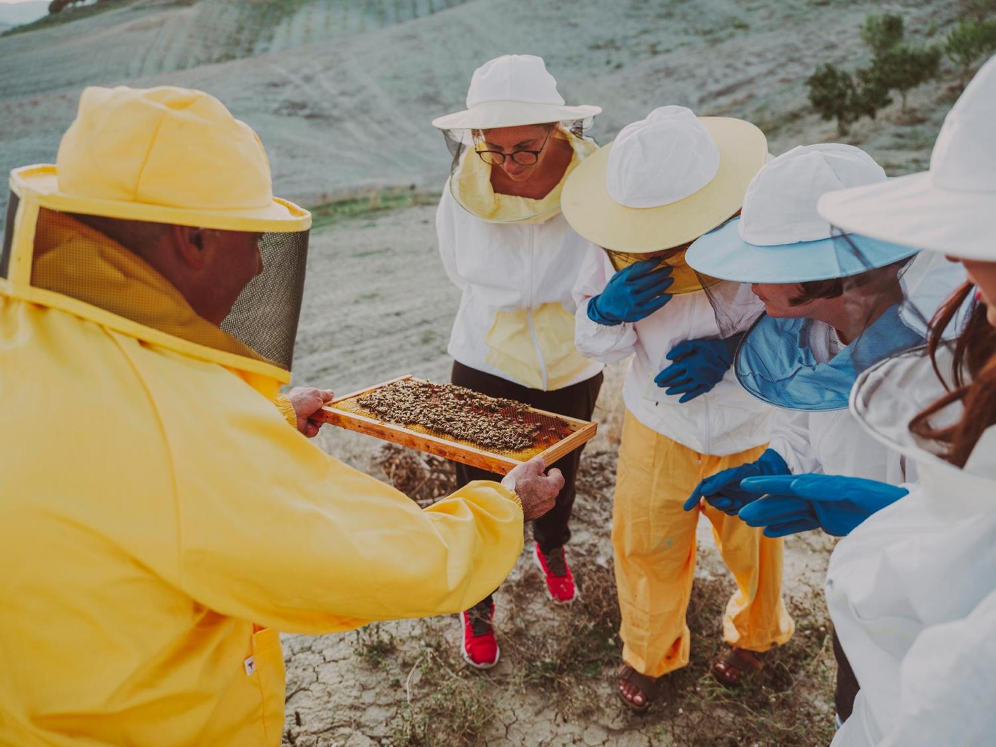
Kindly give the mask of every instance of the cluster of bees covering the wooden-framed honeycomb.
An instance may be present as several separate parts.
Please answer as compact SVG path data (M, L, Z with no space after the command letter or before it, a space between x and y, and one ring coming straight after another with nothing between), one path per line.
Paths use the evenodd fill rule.
M384 422L420 425L491 451L522 451L542 426L526 418L529 408L451 383L405 378L361 396L357 403Z

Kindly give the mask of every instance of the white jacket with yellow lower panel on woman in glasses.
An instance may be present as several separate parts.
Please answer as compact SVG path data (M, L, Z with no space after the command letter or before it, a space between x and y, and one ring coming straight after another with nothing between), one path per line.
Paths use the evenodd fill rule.
M460 207L447 184L436 232L446 274L463 292L449 340L456 361L545 391L602 371L575 348L571 289L588 242L561 213L488 222Z

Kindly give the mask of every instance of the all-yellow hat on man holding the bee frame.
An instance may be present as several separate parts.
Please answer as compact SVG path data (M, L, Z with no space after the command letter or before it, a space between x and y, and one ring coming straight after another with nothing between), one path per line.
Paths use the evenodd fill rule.
M311 213L273 196L259 136L202 91L92 87L55 164L14 169L42 207L129 220L295 232Z

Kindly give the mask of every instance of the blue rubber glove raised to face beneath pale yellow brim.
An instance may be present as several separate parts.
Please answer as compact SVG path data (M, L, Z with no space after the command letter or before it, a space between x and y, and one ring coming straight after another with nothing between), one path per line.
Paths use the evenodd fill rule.
M606 290L588 302L588 318L615 327L650 316L671 300L664 293L674 282L671 269L660 267L659 259L643 259L623 267L609 279Z

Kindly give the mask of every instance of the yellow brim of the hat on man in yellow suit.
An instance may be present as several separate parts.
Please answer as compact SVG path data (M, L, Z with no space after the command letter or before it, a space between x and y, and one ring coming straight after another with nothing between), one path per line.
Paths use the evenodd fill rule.
M40 205L61 212L254 233L294 233L311 228L308 210L279 197L259 208L197 210L67 194L60 191L56 166L51 163L15 168L10 172L10 186L18 194L34 192Z

